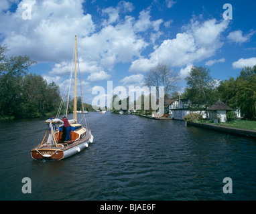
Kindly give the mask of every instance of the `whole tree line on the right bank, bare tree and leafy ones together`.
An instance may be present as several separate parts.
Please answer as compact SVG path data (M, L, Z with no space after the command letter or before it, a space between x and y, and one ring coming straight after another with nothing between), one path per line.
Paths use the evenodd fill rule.
M145 86L164 86L166 100L179 95L190 100L190 108L207 112L207 108L220 99L234 110L239 109L242 117L256 120L256 65L243 68L237 78L222 81L214 80L210 69L194 66L185 78L187 83L182 94L178 92L179 80L179 74L166 64L151 68L144 78ZM142 108L140 112L151 114L152 110Z

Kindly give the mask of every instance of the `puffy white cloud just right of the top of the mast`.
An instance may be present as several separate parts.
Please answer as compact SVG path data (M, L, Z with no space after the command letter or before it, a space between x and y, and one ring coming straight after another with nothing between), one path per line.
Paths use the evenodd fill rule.
M80 42L88 59L99 62L103 67L111 70L117 62L130 62L134 56L140 56L147 46L133 31L133 18L127 17L124 23L103 27L99 33L84 37Z

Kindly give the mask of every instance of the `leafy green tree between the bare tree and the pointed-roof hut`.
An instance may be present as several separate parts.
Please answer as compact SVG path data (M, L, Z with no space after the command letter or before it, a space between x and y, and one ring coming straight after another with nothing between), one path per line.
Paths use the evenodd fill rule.
M186 96L192 102L193 108L207 110L218 100L216 82L210 76L210 70L205 67L193 67L189 76L185 78Z

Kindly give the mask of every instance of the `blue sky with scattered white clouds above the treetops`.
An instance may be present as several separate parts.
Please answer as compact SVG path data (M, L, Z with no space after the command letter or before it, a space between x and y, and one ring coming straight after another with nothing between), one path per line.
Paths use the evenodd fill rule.
M88 104L97 96L92 89L107 93L108 81L127 91L142 87L157 64L178 72L184 92L192 66L228 80L256 64L255 9L254 0L1 0L0 43L9 56L36 60L29 72L63 92L77 35L82 99Z

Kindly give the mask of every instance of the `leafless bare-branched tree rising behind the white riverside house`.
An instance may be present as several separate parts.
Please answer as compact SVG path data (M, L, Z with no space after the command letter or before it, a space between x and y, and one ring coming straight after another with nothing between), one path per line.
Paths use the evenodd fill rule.
M170 70L166 64L158 64L145 75L145 86L156 86L159 94L159 86L164 86L165 94L170 94L178 88L177 82L180 77L177 72Z

